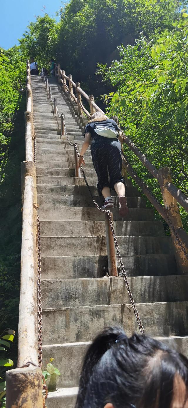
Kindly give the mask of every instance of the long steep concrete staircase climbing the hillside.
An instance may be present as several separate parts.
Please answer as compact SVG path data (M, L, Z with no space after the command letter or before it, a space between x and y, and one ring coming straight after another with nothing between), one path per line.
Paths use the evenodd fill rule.
M108 272L104 214L88 194L83 178L74 176L73 147L60 135L42 79L31 77L36 132L36 170L41 220L43 369L50 357L61 372L48 408L73 408L81 361L96 331L122 324L130 335L138 331L122 277ZM49 79L59 112L64 112L71 141L82 145L82 125L75 104ZM85 173L98 203L97 178L91 151ZM177 275L171 238L164 235L153 210L146 208L128 180L126 220L113 209L115 232L145 332L176 345L187 354L187 277ZM117 197L113 195L115 206Z

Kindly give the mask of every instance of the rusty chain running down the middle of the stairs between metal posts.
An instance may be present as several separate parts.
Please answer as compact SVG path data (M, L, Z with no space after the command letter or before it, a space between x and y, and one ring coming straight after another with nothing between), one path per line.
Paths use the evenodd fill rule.
M76 153L77 153L77 156L79 157L79 151L78 151L78 148L77 148L77 143L74 142L74 143L72 144L72 143L70 142L70 140L69 140L68 135L67 135L66 125L65 125L65 120L64 120L64 115L63 115L63 122L64 122L64 129L65 129L66 138L67 138L69 144L70 144L71 146L74 146L74 147L75 147L75 151L76 151ZM80 169L81 169L81 171L82 171L82 175L83 175L83 177L84 177L84 180L85 180L86 186L87 186L87 188L88 188L88 191L89 191L89 193L90 193L90 195L91 195L91 198L92 198L92 200L93 200L93 204L94 204L95 207L98 208L98 210L100 210L102 213L106 213L106 214L108 215L108 219L109 219L109 223L110 223L110 227L111 227L111 231L112 231L112 235L113 235L113 239L114 239L115 249L116 249L117 256L118 256L118 259L119 259L119 263L120 263L120 266L121 266L121 271L122 271L122 274L123 274L123 277L124 277L124 281L125 281L125 284L126 284L126 288L127 288L127 291L128 291L128 295L129 295L129 298L130 298L130 303L131 303L131 306L132 306L132 308L133 308L133 310L134 310L134 314L135 314L135 317L136 317L136 320L137 320L137 324L138 324L138 326L139 326L139 330L140 330L140 332L143 334L143 333L144 333L144 327L143 327L142 321L141 321L141 319L140 319L140 317L139 317L138 310L137 310L137 308L136 308L135 301L134 301L134 299L133 299L133 295L132 295L132 293L131 293L130 286L129 286L129 283L128 283L128 279L127 279L127 276L126 276L126 271L125 271L125 269L124 269L124 264L123 264L123 262L122 262L122 257L121 257L120 251L119 251L119 245L117 244L117 238L116 238L115 231L114 231L114 227L113 227L113 222L112 222L112 217L111 217L111 211L109 211L109 210L104 210L103 208L101 208L101 207L97 204L97 202L95 201L95 199L94 199L94 197L93 197L93 194L91 193L91 189L89 188L89 185L88 185L88 182L87 182L86 175L85 175L85 173L84 173L84 169L83 169L82 164L81 164L81 166L80 166Z

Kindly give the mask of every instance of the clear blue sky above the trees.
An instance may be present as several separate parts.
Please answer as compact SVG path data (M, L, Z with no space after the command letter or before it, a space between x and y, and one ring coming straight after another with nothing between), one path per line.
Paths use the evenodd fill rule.
M34 16L44 15L43 6L46 7L46 13L49 16L56 17L56 11L62 7L64 2L61 0L2 0L0 47L8 49L15 44L18 45L18 38L22 37L29 22L35 21Z

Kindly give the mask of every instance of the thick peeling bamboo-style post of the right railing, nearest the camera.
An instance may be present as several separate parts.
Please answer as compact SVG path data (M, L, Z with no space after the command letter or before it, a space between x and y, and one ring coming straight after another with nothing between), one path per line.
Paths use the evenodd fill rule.
M173 227L175 228L175 230L177 230L177 228L183 228L183 224L179 214L177 200L169 193L169 191L165 187L166 183L172 183L172 176L169 167L163 167L159 169L159 184L161 187L161 193L164 200L164 207L166 209L168 217L170 218L170 221L173 224ZM173 232L173 228L171 228L170 225L169 227L175 250L177 267L181 272L188 271L188 259L185 257L184 252L182 251L181 247L177 242L177 239Z

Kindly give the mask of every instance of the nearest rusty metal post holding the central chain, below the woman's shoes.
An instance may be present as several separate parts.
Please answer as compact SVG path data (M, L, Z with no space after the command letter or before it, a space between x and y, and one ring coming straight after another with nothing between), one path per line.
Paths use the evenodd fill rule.
M113 222L113 214L111 213ZM108 255L108 273L110 276L118 276L117 274L117 259L115 252L115 244L111 231L111 226L108 218L108 214L105 214L105 226L106 226L106 246Z

